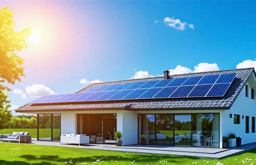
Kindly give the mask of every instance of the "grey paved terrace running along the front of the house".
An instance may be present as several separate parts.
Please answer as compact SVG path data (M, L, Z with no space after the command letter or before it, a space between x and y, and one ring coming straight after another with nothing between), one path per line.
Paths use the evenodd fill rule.
M1 142L7 143L7 142ZM152 154L166 154L166 155L179 155L179 156L196 156L201 158L222 159L228 156L237 155L256 148L256 143L242 145L241 147L233 147L229 149L209 148L209 147L186 147L186 146L170 146L170 145L127 145L115 146L114 144L61 144L60 142L47 142L47 141L32 141L32 145L49 145L49 146L63 146L63 147L76 147L84 149L101 149L110 151L133 152L133 153L152 153ZM27 144L31 145L31 144Z

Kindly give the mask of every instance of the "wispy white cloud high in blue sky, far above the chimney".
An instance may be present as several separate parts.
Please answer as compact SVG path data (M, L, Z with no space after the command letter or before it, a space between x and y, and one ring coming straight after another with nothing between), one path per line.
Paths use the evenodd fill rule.
M181 22L179 19L174 19L174 17L166 17L164 19L166 25L175 28L176 30L185 30L186 26L189 26L191 29L194 29L194 25L192 23Z

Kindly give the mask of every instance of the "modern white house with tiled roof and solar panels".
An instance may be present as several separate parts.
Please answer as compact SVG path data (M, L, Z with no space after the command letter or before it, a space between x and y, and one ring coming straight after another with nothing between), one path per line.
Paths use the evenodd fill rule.
M97 143L186 145L222 148L236 133L256 142L256 74L253 68L95 83L75 94L38 98L16 112L38 115L38 140L62 133L95 135Z

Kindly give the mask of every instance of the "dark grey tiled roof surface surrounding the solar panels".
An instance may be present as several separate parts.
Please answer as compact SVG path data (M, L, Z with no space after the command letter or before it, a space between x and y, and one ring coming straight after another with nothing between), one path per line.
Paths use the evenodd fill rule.
M254 68L232 69L222 71L210 71L200 73L189 73L171 75L170 78L213 75L224 73L237 73L236 78L230 85L224 97L211 98L167 98L167 99L144 99L144 100L115 100L115 101L92 101L80 103L49 103L49 104L26 104L16 109L16 112L37 112L37 111L72 111L72 110L187 110L187 109L230 109L241 89L251 74L255 74ZM164 77L153 77L144 79L122 80L105 83L95 83L78 91L98 85L117 84L126 82L137 82L146 80L161 80Z

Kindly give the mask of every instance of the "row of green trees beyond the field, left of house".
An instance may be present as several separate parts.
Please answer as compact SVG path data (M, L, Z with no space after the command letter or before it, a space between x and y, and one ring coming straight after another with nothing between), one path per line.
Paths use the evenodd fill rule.
M29 117L14 116L5 124L5 128L37 128L37 119L32 115Z

